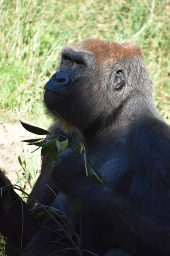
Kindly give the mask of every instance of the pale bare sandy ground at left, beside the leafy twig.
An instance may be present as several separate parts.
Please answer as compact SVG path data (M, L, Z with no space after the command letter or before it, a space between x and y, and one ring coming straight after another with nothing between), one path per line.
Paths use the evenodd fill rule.
M23 159L23 149L25 152L33 150L31 146L27 146L26 143L21 141L36 137L37 135L26 131L20 123L12 125L0 121L0 167L6 170L7 176L13 184L17 180L17 172L20 173L21 170L18 156ZM29 161L31 157L35 157L37 168L40 169L40 150L32 154L25 154L24 159L26 158Z

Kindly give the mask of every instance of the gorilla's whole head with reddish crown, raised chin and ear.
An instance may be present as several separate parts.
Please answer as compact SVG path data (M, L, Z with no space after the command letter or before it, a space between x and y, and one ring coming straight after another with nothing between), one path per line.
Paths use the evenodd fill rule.
M46 107L80 130L107 119L132 88L134 56L141 58L136 46L98 40L64 48L59 71L45 85Z

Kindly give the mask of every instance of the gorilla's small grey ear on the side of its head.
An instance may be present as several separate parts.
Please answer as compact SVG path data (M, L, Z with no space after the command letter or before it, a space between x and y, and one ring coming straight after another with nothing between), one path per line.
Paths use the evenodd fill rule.
M125 85L125 74L122 68L119 68L113 72L112 84L115 90L121 89Z

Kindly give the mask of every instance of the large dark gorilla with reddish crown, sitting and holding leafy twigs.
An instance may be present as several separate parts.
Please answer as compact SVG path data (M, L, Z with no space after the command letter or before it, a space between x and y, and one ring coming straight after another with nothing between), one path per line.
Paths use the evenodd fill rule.
M139 47L95 39L65 47L44 89L50 131L68 137L69 147L59 163L42 157L23 229L15 198L8 214L0 198L0 232L24 256L169 256L170 126L153 104ZM76 157L80 138L85 152ZM84 157L102 184L86 175ZM30 212L41 209L29 211L32 198L72 215L77 236L58 239L51 216L35 226Z

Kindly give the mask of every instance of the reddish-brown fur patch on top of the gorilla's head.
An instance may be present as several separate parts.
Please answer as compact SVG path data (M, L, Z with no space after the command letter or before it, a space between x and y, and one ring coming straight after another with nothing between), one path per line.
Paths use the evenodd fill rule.
M91 52L98 61L103 62L113 58L142 57L139 47L130 43L117 44L97 39L88 39L73 46L74 50Z

